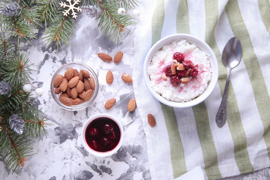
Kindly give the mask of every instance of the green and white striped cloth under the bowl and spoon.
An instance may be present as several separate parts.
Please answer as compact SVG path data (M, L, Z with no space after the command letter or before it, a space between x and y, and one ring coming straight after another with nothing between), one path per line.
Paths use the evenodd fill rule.
M269 0L141 1L134 38L133 87L152 179L174 179L198 165L208 179L270 166L269 7ZM143 79L148 50L175 33L203 39L218 59L217 86L204 102L190 108L160 104ZM227 122L219 128L215 116L227 76L221 53L233 36L241 42L242 61L232 70ZM147 114L155 116L154 128L148 125Z

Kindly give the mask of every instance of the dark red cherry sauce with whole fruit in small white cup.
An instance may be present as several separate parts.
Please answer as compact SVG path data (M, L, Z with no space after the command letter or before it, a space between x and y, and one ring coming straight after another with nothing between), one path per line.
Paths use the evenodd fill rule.
M120 141L120 128L112 119L97 118L87 127L85 138L90 148L106 152L114 149Z

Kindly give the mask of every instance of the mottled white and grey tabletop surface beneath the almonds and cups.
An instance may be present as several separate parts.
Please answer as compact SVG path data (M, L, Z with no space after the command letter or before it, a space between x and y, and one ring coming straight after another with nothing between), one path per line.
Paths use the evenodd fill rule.
M134 98L133 87L122 81L121 75L132 75L133 34L125 34L122 43L114 45L108 41L97 28L94 19L85 15L77 19L76 33L69 48L62 47L60 52L54 46L46 48L38 39L33 40L33 46L21 47L21 51L29 54L33 63L31 77L35 87L41 87L44 94L36 98L36 104L46 113L48 122L52 123L46 129L47 136L33 139L34 153L21 168L20 174L11 174L0 163L0 179L151 179L147 158L145 134L139 112L127 111L127 103ZM134 28L134 27L133 27ZM133 29L131 29L133 30ZM41 32L42 30L40 30ZM119 64L107 63L97 57L97 53L110 55L117 51L124 53ZM69 62L82 62L94 69L99 79L99 93L95 101L81 111L67 111L58 106L50 93L50 81L54 72ZM114 75L113 84L106 84L105 76L108 70ZM35 95L34 95L35 96ZM116 98L112 109L105 109L107 99ZM106 158L90 155L82 146L80 132L83 123L92 115L108 113L117 117L124 127L124 141L119 151ZM238 179L270 179L269 168L254 173L225 178Z

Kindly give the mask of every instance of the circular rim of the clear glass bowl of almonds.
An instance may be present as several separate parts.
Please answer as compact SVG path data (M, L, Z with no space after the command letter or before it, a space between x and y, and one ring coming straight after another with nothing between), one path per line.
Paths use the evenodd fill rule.
M89 70L90 73L92 74L94 80L95 80L95 83L96 83L96 89L94 91L94 94L93 94L92 98L89 101L84 102L80 106L78 106L78 105L66 106L66 105L62 104L59 100L56 99L56 94L54 93L55 88L53 87L53 80L59 74L59 71L61 71L63 68L65 68L67 66L70 66L70 65L79 65L79 66L82 66L85 69ZM67 64L64 64L64 65L60 66L60 68L58 68L55 71L55 73L52 76L51 82L50 82L50 90L51 90L52 98L55 100L55 102L60 107L66 109L66 110L69 110L69 111L79 111L79 110L87 108L96 99L98 91L99 91L99 81L98 81L98 78L97 78L97 75L96 75L95 71L92 68L90 68L88 65L83 64L81 62L70 62L70 63L67 63Z

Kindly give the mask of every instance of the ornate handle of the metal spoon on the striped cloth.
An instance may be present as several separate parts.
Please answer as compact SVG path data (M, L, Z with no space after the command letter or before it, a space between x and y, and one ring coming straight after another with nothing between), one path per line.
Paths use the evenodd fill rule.
M228 95L230 75L231 75L231 69L228 70L224 93L222 96L220 107L218 108L218 112L216 115L216 123L218 127L222 127L225 124L226 119L227 119L227 95Z

